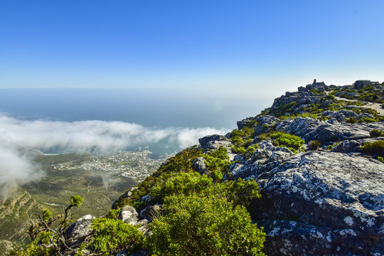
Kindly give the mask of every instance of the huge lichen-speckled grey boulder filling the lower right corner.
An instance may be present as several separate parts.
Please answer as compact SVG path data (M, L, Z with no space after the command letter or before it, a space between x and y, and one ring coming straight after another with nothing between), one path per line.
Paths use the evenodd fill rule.
M245 166L242 166L245 168ZM257 225L267 255L380 255L384 251L384 164L311 151L257 176Z

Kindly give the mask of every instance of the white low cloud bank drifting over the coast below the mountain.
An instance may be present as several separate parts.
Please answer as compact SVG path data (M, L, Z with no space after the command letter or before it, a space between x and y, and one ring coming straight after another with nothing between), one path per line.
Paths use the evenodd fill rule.
M95 154L112 153L160 143L165 148L183 149L198 144L198 138L208 134L225 134L228 130L214 128L165 129L143 127L127 122L99 120L81 122L26 121L0 113L0 193L10 184L23 184L41 178L29 156L19 148L41 151L91 151Z

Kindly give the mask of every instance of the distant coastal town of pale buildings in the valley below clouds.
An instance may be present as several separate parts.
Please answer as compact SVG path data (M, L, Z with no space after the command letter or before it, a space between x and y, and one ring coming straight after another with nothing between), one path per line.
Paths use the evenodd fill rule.
M92 171L106 171L112 175L132 178L138 183L153 174L166 160L151 159L151 151L119 151L113 155L92 156L82 164L53 164L52 169L85 169Z

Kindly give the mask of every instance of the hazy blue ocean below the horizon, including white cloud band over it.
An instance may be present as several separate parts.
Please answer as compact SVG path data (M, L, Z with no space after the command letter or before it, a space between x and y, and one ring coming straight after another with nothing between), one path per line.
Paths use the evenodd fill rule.
M46 153L172 154L198 137L235 129L271 102L235 90L1 89L0 130L6 146Z

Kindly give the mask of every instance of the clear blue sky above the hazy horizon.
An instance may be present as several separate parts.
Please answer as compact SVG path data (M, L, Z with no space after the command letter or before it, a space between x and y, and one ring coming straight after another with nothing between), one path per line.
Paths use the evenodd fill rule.
M1 87L384 80L384 0L0 0Z

